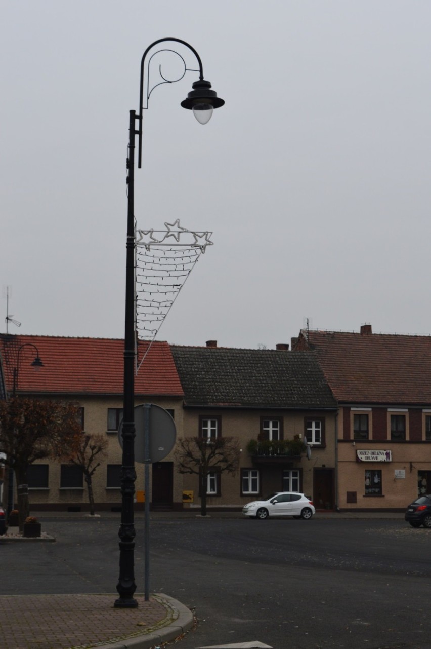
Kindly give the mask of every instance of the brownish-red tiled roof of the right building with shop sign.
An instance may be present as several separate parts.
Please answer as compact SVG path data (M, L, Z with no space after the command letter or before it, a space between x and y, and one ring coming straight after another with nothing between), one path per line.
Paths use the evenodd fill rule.
M431 336L309 331L297 349L307 337L339 402L431 404Z

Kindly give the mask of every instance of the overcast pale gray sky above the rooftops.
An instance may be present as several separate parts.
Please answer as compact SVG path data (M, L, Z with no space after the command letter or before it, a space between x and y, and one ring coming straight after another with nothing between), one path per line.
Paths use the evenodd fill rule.
M138 227L215 242L158 339L431 334L431 3L2 0L0 29L0 330L11 286L10 333L123 336L128 112L170 36L226 105L199 125L187 73L145 112Z

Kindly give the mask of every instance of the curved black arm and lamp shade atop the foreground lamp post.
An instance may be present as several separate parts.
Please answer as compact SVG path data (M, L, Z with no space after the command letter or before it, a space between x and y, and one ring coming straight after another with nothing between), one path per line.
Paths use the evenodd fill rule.
M145 58L148 52L150 51L150 49L154 47L154 45L158 45L159 43L165 43L167 41L174 42L174 43L181 43L181 45L185 45L185 47L188 47L189 50L194 54L194 56L196 56L196 60L199 66L199 80L195 81L194 84L192 84L192 91L189 92L187 99L181 102L181 106L183 106L183 108L192 109L194 106L196 107L196 104L198 104L199 106L198 110L205 110L207 108L211 108L211 112L212 112L213 108L219 108L224 104L224 100L220 99L220 97L217 97L217 93L214 90L210 90L211 83L209 81L205 81L202 60L198 55L198 53L196 52L196 50L194 49L194 47L192 47L186 41L181 40L181 38L159 38L159 40L156 40L154 41L154 43L151 43L151 45L149 45L146 48L141 59L141 84L139 88L139 115L138 115L139 129L136 131L136 134L138 136L137 165L139 169L141 169L141 161L142 161L142 118L143 118L143 110L144 110L143 97L144 97Z

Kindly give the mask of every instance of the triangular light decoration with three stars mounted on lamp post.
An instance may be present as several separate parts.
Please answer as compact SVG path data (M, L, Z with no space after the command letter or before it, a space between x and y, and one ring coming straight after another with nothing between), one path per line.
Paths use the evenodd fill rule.
M194 265L213 245L212 232L187 230L180 219L165 228L135 233L135 331L139 339L150 341L145 356Z

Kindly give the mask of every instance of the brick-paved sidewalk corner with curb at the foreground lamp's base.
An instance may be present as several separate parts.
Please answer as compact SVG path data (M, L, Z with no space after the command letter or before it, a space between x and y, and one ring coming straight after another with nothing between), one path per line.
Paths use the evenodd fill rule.
M136 609L113 607L116 595L0 596L1 649L150 649L193 624L187 607L165 594Z

